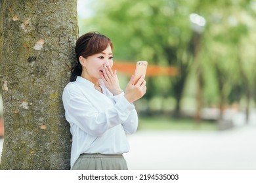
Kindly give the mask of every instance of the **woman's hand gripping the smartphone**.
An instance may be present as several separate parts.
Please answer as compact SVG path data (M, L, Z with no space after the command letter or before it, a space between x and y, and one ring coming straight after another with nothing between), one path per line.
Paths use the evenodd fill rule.
M131 80L126 86L125 95L124 95L127 101L129 101L130 103L137 101L138 99L143 97L143 95L145 95L146 81L144 80L144 78L145 78L144 75L141 76L137 84L134 85L133 82L135 80L135 76L134 75L131 76Z

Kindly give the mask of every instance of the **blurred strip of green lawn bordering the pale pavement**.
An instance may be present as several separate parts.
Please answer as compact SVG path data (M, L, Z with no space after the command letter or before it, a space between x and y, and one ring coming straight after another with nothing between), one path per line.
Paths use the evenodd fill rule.
M200 130L215 131L217 130L216 122L203 121L200 124L193 119L174 119L167 117L139 116L138 130Z

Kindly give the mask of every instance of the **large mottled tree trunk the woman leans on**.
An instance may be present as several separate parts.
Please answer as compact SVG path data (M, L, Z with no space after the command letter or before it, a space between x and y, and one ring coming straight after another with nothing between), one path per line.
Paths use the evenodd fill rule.
M78 36L76 0L1 1L1 169L70 169L62 90Z

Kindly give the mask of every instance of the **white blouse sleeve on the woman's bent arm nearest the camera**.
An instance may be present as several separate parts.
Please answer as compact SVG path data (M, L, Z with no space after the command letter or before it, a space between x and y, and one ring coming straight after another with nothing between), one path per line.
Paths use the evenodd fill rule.
M128 101L120 99L116 105L110 106L104 112L99 112L73 85L64 89L62 101L66 120L70 125L74 123L92 136L100 136L108 129L125 123L135 109Z

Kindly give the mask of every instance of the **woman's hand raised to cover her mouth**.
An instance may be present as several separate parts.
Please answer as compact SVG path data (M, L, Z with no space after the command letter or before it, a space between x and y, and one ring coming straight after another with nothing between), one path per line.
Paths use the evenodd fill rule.
M123 92L119 86L119 80L117 78L116 71L113 73L109 66L104 66L102 80L106 88L108 88L108 90L110 90L113 95L118 95Z

